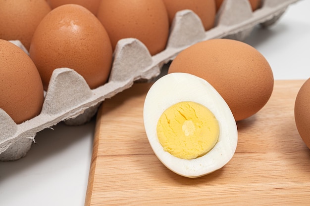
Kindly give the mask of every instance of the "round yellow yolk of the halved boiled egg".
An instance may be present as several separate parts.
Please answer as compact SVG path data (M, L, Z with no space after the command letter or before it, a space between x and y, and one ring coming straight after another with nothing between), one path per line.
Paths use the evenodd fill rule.
M157 137L164 151L181 159L204 156L216 144L219 125L207 107L191 101L166 109L157 123Z

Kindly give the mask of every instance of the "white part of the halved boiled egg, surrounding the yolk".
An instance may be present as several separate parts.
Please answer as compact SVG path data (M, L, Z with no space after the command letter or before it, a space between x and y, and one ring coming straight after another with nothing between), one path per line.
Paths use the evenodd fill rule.
M161 114L173 104L193 101L206 106L219 124L219 138L204 156L185 160L163 150L158 141L156 126ZM143 118L150 145L160 162L185 177L200 177L224 165L233 157L238 140L237 125L225 100L204 79L187 73L171 73L157 80L147 93Z

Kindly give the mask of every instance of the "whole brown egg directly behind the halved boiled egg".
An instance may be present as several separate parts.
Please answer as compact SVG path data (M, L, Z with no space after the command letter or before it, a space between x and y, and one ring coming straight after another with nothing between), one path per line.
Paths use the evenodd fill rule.
M258 50L241 41L214 39L196 43L172 61L168 73L173 72L207 80L227 102L236 121L257 113L273 90L270 65Z

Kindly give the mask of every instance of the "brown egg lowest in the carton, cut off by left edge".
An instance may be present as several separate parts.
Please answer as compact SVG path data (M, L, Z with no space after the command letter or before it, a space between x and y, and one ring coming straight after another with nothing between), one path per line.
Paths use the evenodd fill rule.
M39 115L44 101L39 72L18 46L0 40L0 108L16 124Z

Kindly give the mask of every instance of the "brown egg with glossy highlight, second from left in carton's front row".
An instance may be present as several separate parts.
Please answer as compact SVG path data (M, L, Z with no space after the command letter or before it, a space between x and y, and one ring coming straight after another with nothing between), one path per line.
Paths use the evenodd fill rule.
M37 27L30 57L47 89L52 72L68 67L82 75L90 88L107 81L112 62L112 47L100 21L77 4L54 8Z

